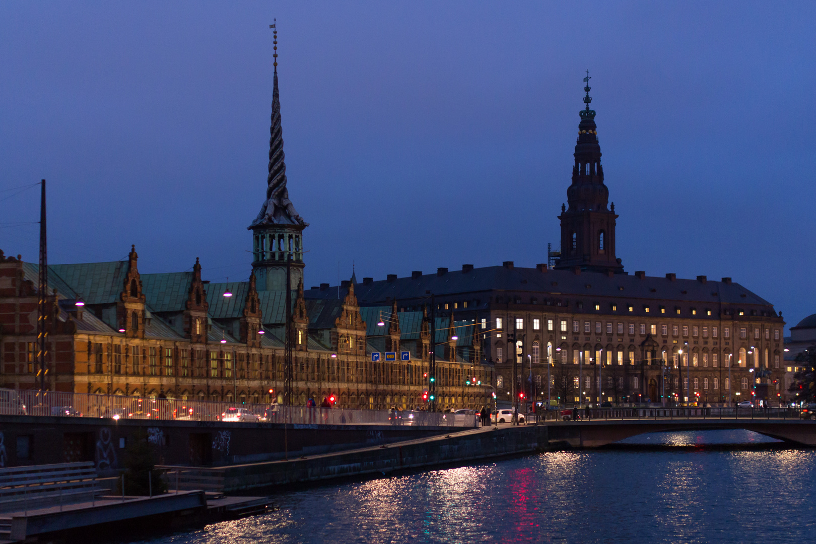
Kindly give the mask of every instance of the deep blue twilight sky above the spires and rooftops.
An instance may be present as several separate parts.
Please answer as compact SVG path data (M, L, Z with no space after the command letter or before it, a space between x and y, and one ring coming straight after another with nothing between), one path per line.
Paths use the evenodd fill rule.
M816 312L816 2L2 2L0 249L246 279L273 17L307 287L546 262L589 69L626 270Z

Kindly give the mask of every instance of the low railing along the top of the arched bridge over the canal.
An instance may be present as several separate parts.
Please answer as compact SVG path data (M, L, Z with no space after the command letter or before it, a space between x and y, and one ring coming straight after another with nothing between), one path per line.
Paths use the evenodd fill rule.
M695 407L695 406L674 406L674 407L613 407L613 408L579 408L577 409L579 420L602 420L614 421L622 419L799 419L800 411L795 408L743 408L736 406L725 407ZM571 421L573 412L571 409L544 410L538 418L542 421L564 420ZM528 422L536 420L528 417Z

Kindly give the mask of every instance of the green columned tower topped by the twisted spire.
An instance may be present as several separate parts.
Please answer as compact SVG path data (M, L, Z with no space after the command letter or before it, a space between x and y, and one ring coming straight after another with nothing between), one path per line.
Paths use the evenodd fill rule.
M257 289L286 290L286 260L291 257L290 285L304 277L303 231L308 223L295 211L286 189L286 163L283 161L281 100L277 91L277 28L274 29L274 83L272 91L272 126L269 129L269 174L266 200L255 221L247 227L253 232L252 270Z

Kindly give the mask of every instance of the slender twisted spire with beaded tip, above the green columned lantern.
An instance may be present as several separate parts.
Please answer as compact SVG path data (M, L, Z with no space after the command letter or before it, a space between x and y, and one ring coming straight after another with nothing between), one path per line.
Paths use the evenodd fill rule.
M308 226L295 206L289 200L289 190L286 188L286 163L283 161L283 129L281 126L281 97L277 90L277 28L273 29L273 45L275 59L272 91L272 123L269 127L269 166L266 179L266 201L261 207L258 217L249 228L270 224L295 224Z

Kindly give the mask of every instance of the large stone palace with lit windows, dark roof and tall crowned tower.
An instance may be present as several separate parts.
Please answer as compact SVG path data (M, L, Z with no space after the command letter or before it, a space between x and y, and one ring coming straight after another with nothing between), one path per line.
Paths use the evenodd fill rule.
M588 81L588 80L587 80ZM589 108L580 111L572 182L561 206L561 259L553 268L502 266L364 278L361 306L437 315L472 329L494 364L499 399L722 403L783 395L783 327L771 303L724 277L684 280L624 272ZM307 299L336 290L313 288ZM549 380L549 387L548 387Z

